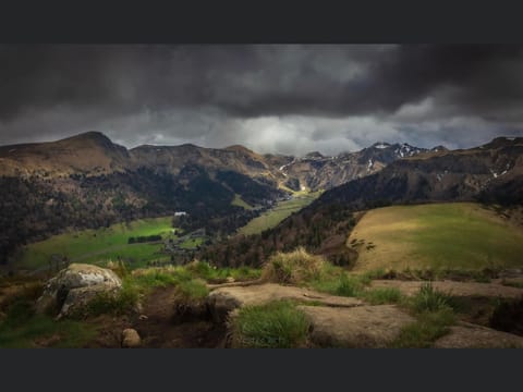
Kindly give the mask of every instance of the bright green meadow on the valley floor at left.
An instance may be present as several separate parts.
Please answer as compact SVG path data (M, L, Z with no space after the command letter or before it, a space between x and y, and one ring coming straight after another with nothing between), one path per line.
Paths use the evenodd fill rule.
M108 259L132 259L133 266L161 257L158 243L127 244L129 237L171 234L171 217L141 219L98 230L83 230L54 235L24 246L17 260L20 267L36 269L48 265L51 255L68 256L71 261L96 264Z

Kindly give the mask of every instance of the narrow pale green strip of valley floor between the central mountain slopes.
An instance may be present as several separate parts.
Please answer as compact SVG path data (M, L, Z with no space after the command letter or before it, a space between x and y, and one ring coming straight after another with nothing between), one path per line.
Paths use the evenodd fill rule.
M295 193L292 199L279 201L275 208L271 208L259 217L251 220L246 225L239 230L239 233L251 235L273 228L292 212L299 211L303 207L308 206L319 195L320 192Z

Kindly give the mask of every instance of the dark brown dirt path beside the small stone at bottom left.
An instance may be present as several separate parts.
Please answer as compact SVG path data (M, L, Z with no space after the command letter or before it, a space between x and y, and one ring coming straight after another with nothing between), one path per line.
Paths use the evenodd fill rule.
M151 348L219 347L224 328L209 320L177 322L174 320L174 289L158 289L150 294L134 328L142 336L143 346Z

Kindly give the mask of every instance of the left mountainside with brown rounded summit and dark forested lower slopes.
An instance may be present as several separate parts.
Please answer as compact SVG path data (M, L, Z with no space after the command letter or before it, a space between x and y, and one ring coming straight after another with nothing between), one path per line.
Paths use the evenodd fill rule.
M0 148L0 262L66 229L186 211L179 224L227 234L284 196L277 171L239 147L114 145L100 133ZM281 174L280 174L281 176Z

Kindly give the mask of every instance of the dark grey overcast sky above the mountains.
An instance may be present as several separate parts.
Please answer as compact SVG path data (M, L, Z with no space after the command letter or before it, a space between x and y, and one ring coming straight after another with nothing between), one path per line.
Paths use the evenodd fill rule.
M335 155L522 130L523 47L0 45L2 145L100 131L129 148Z

